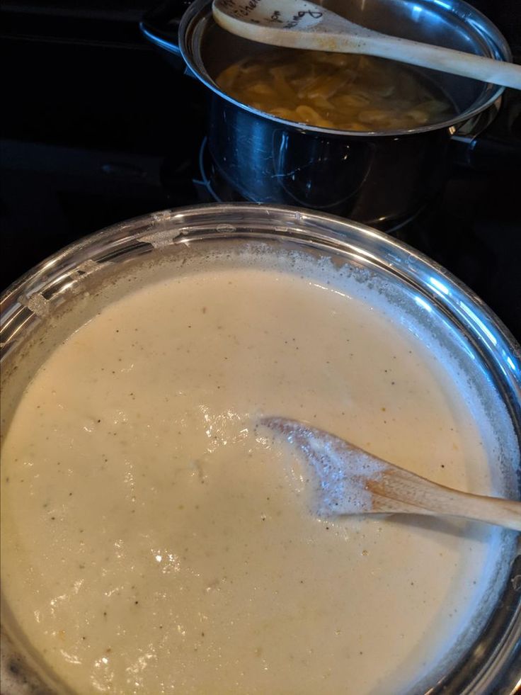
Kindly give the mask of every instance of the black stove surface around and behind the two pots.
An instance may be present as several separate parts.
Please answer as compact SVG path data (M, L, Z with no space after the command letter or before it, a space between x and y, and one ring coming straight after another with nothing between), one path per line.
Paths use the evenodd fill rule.
M502 4L474 4L516 50L520 13L502 25ZM147 6L4 4L2 288L83 235L212 198L199 161L205 89L144 43L137 23ZM518 145L520 99L508 96L518 100L509 136ZM521 162L494 173L454 164L440 198L395 234L464 281L521 339Z

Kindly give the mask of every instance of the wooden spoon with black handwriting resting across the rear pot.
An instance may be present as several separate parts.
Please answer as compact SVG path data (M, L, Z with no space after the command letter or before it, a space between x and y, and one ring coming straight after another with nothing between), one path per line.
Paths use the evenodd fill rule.
M214 19L243 38L289 48L364 53L521 89L521 67L372 31L307 0L213 0Z

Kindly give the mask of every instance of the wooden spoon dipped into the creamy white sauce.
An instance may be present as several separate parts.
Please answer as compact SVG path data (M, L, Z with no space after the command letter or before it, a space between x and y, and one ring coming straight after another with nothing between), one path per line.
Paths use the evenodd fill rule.
M471 495L438 485L296 420L264 417L261 422L285 435L304 452L316 474L321 515L462 516L521 531L521 502Z

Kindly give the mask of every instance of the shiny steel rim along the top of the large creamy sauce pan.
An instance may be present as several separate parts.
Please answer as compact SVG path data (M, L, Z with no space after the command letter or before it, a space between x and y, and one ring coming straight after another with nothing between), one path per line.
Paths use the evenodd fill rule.
M75 273L70 279L77 280L75 269L78 264L87 264L82 268L81 275L88 275L98 269L98 264L110 261L113 256L127 254L139 245L151 243L154 246L150 242L154 232L178 227L175 237L186 238L192 233L190 229L209 226L208 219L212 217L216 218L213 226L217 237L234 230L234 225L244 224L245 220L252 218L265 233L268 233L266 230L269 227L271 235L275 237L283 233L297 239L300 233L319 239L328 246L333 244L344 249L355 247L356 252L372 264L387 267L402 280L422 286L428 291L430 300L478 337L482 349L496 354L498 362L504 363L500 371L503 378L508 378L517 390L521 425L521 345L474 290L429 256L385 232L345 217L291 205L248 202L185 205L132 217L76 239L33 266L1 292L1 357L11 347L13 339L18 337L18 332L16 336L8 334L16 311L31 310L28 303L33 295L54 288L57 281L58 292L67 290L67 283L62 286L64 276ZM308 227L305 233L302 232L304 226ZM361 239L365 248L358 246ZM105 253L102 256L93 254L93 247L101 247ZM95 260L92 261L93 257Z

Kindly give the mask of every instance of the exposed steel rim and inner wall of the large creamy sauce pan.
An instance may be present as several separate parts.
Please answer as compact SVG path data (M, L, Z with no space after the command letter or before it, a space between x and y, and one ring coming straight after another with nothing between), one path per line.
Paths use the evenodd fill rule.
M14 401L33 375L34 362L25 359L31 345L45 332L59 331L57 315L74 301L103 291L118 273L132 274L142 261L161 262L168 254L190 247L211 259L212 244L262 241L275 253L298 251L314 259L331 259L369 273L371 282L384 283L389 298L404 300L401 312L461 361L476 392L497 392L488 411L494 419L511 422L521 445L521 354L508 330L456 278L427 257L387 235L336 217L292 208L260 205L206 205L165 210L127 220L96 235L80 239L35 267L1 298L1 366L4 392ZM211 262L211 261L209 261ZM383 286L383 285L382 285ZM398 293L396 295L395 293ZM406 298L406 300L405 300ZM45 353L45 342L42 351ZM45 354L42 358L45 357ZM19 368L18 368L19 366ZM16 380L13 377L16 369ZM13 385L14 383L14 385ZM9 397L6 397L8 405ZM3 412L8 417L8 409ZM519 448L519 447L517 447ZM521 495L519 457L498 454L510 480L505 494ZM486 625L457 664L428 688L429 695L514 695L521 655L521 548L512 538L508 567L496 578L498 596ZM8 623L8 610L2 611ZM11 633L12 634L12 626ZM19 643L19 642L18 642ZM22 642L23 643L23 642ZM29 654L4 638L2 692L5 695L46 691L28 668ZM35 667L38 654L33 654ZM423 691L422 691L423 692Z

